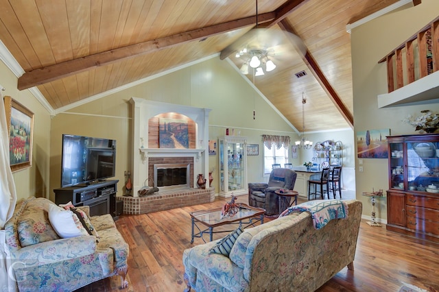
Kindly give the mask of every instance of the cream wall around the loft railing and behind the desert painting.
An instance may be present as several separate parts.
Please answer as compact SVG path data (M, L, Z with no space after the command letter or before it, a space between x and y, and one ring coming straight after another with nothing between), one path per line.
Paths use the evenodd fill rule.
M401 45L418 30L438 16L439 1L423 0L420 5L388 13L353 29L351 34L355 133L364 130L390 129L391 135L415 134L414 127L402 120L407 114L416 115L429 108L439 111L439 104L378 108L377 95L387 93L386 64L378 61ZM363 204L363 214L371 212L364 191L388 189L388 160L363 159L364 172L356 171L357 199ZM356 158L355 165L358 165ZM358 167L356 167L358 169ZM377 217L387 219L387 202L379 200Z

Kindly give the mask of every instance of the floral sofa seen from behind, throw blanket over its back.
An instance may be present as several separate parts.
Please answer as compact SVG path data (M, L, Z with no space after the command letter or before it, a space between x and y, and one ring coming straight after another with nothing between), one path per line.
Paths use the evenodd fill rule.
M312 204L337 204L329 217L344 213L346 218L305 211ZM298 212L289 213L290 208ZM235 230L239 235L225 249L228 255L215 252L228 236L185 250L186 291L315 291L344 267L353 269L360 201L316 200L290 208L241 234Z

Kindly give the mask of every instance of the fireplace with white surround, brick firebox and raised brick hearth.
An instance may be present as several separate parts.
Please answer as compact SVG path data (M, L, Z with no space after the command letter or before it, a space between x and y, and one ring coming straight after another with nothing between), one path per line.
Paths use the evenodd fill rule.
M206 183L206 189L194 188L196 176L209 178L209 109L178 104L166 104L132 97L132 197L118 197L123 201L125 214L143 214L213 202L215 189ZM189 147L161 148L159 119L187 120ZM139 197L143 186L154 186L154 165L189 165L188 186L182 188L158 187L154 195ZM195 174L196 175L195 175Z

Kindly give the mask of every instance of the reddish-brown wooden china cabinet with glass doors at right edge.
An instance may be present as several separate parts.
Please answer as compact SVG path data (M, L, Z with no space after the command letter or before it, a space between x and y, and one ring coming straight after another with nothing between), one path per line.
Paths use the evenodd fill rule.
M387 229L439 242L439 134L388 136Z

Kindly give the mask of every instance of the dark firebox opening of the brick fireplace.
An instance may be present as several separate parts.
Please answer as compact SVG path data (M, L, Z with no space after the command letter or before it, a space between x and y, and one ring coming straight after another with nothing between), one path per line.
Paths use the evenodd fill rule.
M161 189L189 188L190 164L154 165L154 186Z

